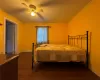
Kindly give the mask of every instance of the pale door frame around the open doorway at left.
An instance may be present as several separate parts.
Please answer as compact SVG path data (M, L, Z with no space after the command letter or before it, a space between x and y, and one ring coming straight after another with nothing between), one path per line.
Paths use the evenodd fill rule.
M6 21L9 21L13 24L15 24L15 41L14 41L14 49L15 49L15 53L17 53L17 27L18 27L18 24L8 18L4 18L4 54L6 53Z

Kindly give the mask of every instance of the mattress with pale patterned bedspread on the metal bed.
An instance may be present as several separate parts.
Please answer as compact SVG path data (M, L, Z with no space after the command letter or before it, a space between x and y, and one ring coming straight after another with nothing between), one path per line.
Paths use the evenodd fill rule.
M36 48L35 57L43 62L85 62L86 51L66 44L43 44Z

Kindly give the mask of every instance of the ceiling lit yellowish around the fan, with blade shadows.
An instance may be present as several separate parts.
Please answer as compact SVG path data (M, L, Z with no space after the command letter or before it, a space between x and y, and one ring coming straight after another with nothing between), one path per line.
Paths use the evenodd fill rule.
M22 0L0 0L0 8L17 17L23 22L69 22L91 0L26 0L43 9L38 15L32 17Z

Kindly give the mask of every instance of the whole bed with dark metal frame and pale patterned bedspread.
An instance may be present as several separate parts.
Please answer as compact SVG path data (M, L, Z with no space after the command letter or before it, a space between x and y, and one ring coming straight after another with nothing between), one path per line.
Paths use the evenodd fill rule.
M86 40L86 49L82 48L82 41ZM80 47L76 42L80 41ZM42 44L34 50L32 48L32 68L34 56L37 62L83 62L88 67L88 31L84 35L69 36L68 44Z

